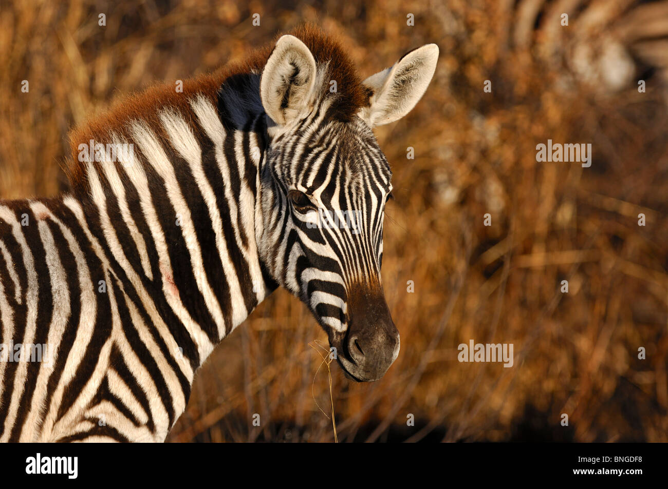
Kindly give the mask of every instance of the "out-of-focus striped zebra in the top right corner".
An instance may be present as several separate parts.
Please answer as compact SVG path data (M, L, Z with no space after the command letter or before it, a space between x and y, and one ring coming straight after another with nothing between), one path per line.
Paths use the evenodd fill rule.
M500 51L562 70L566 86L615 93L641 79L668 85L666 0L500 0L496 9Z

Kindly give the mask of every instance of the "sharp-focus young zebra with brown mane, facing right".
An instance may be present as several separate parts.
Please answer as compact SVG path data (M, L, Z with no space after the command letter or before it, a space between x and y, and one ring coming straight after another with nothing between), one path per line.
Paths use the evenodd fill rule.
M279 286L345 376L381 378L399 332L372 128L418 103L438 53L362 81L337 39L301 26L75 129L69 191L0 201L0 441L164 441L196 370Z

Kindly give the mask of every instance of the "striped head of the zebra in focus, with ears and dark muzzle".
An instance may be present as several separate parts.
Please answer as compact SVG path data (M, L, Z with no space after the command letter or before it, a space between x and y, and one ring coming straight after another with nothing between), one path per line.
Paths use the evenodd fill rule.
M261 75L269 142L257 212L260 256L313 312L345 373L373 381L397 358L399 332L380 274L391 171L371 128L415 106L434 75L438 47L415 49L363 83L347 65L341 69L349 63L341 53L313 52L285 35ZM343 83L357 83L358 93Z

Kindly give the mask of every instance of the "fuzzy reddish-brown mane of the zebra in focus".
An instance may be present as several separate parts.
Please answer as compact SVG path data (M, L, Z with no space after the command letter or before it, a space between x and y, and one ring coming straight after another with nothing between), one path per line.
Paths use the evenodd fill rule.
M341 47L339 40L324 33L314 25L301 25L289 32L301 39L313 53L317 63L329 61L329 70L337 80L337 101L333 108L333 117L349 120L357 109L368 105L369 92L361 83L353 63ZM112 109L102 115L92 117L86 123L69 133L71 159L65 167L71 187L81 190L85 185L85 170L78 161L81 143L88 144L90 139L106 143L111 133L125 134L125 126L132 119L142 119L153 127L159 127L158 113L164 107L171 107L182 113L190 111L189 99L198 93L209 97L216 106L217 92L226 79L233 75L261 72L280 35L271 43L255 49L246 59L228 63L213 73L201 75L183 81L182 93L177 93L174 83L156 83L144 91L134 93L114 103Z

